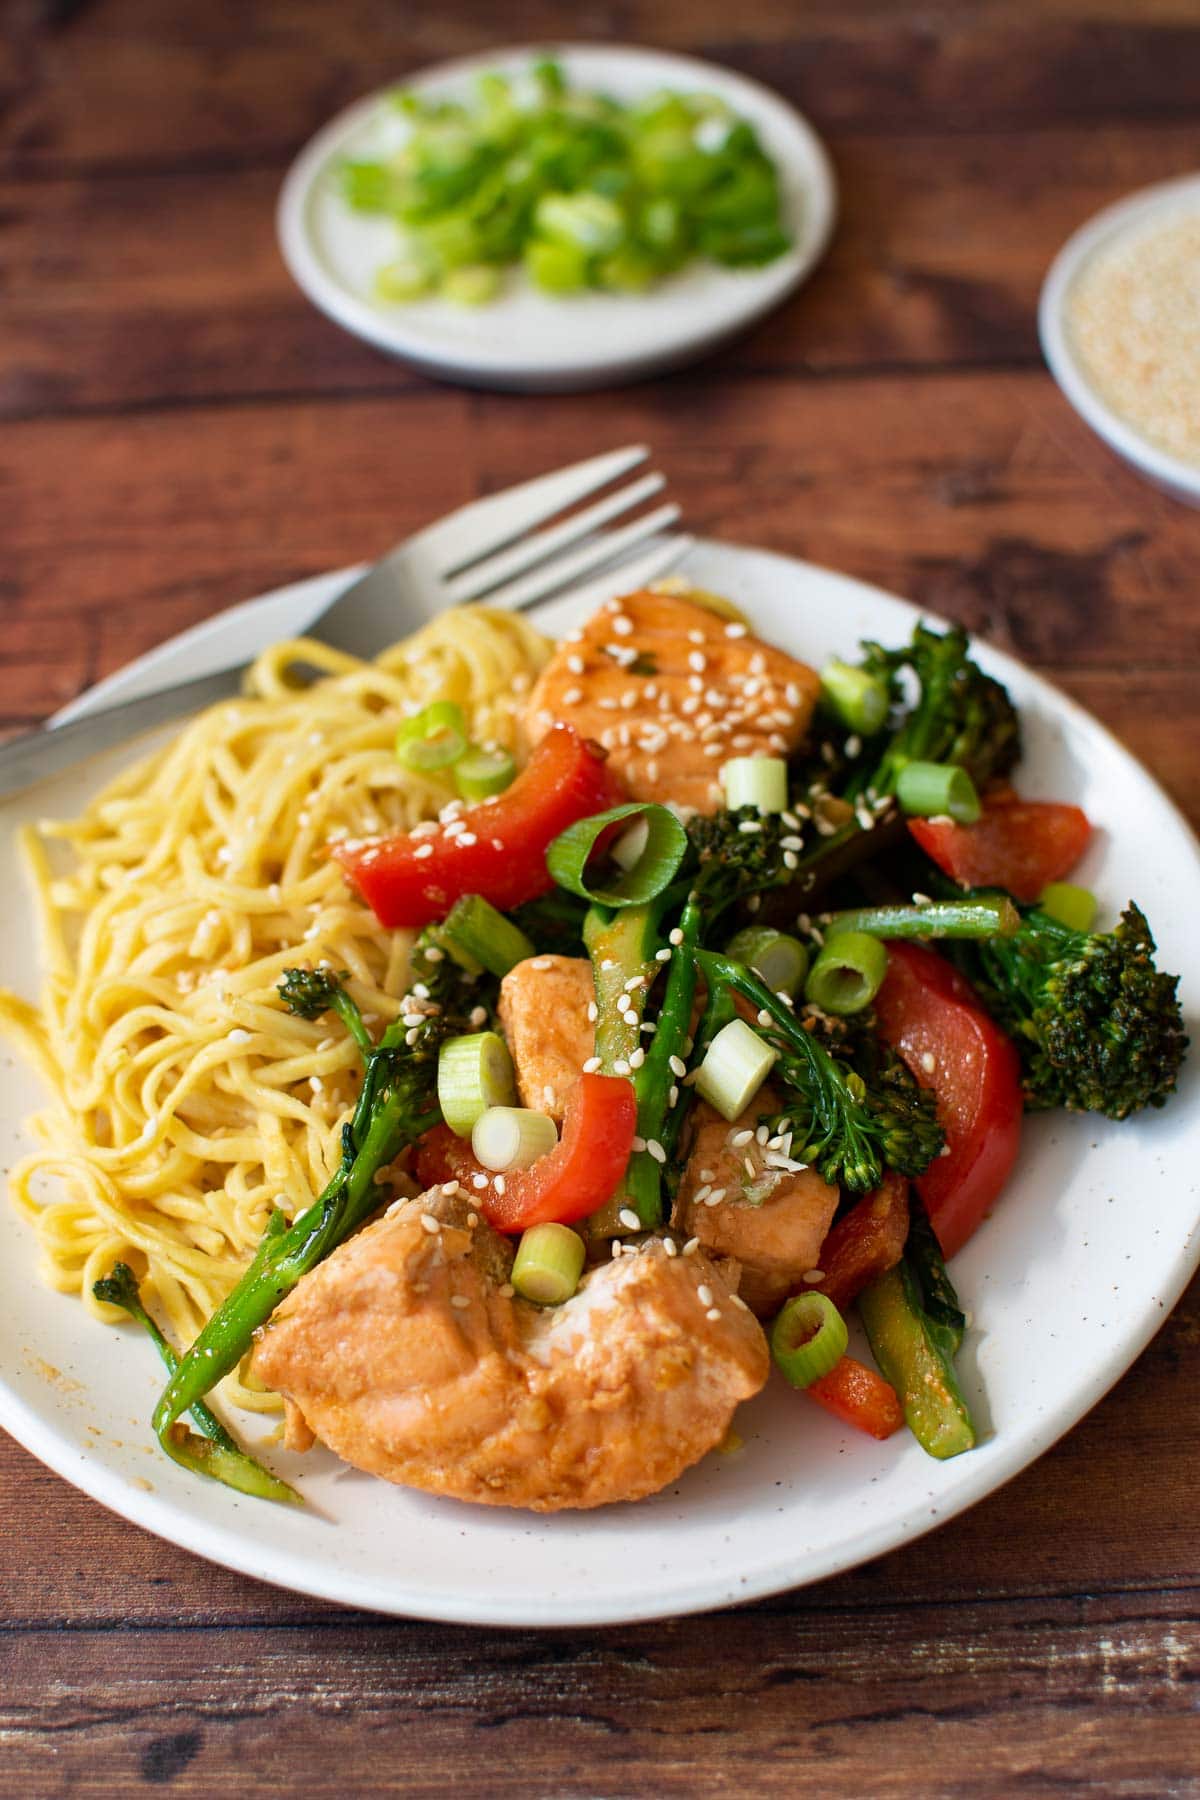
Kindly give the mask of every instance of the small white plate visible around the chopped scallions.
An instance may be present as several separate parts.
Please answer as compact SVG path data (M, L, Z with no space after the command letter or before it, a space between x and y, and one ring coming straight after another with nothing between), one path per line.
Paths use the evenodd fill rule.
M347 331L403 356L428 374L468 387L569 391L604 387L691 362L777 306L820 257L837 209L829 158L811 126L777 94L712 63L628 45L527 45L441 63L405 81L423 94L462 95L482 70L518 74L556 56L574 86L631 101L657 88L711 92L747 117L774 158L793 234L786 256L765 268L694 263L649 293L581 293L551 299L513 274L489 306L423 299L387 306L374 274L396 254L387 218L342 200L342 157L396 148L403 121L374 94L338 113L300 151L279 196L279 245L309 301Z

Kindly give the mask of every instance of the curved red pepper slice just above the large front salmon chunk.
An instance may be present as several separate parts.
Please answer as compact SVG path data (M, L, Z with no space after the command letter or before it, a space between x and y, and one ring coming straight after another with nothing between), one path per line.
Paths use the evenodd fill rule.
M567 1094L563 1136L529 1168L498 1177L475 1157L466 1138L435 1125L417 1147L417 1181L426 1188L461 1181L497 1231L569 1226L615 1193L635 1130L633 1084L617 1075L581 1075ZM479 1188L473 1175L486 1175L488 1184Z

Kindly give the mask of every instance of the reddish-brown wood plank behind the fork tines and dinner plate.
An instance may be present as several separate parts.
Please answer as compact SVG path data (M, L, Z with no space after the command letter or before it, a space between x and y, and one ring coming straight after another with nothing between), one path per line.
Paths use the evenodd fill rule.
M777 380L770 403L756 380L678 378L610 394L603 437L655 446L693 529L880 581L1034 664L1184 677L1200 661L1200 517L1043 374ZM14 425L5 610L18 630L90 617L99 673L596 445L588 403L448 389ZM86 481L65 484L72 470ZM0 713L41 698L27 664L0 668Z

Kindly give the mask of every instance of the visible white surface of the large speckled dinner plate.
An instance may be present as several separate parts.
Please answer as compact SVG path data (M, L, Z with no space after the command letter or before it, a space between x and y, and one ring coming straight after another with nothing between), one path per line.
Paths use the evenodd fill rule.
M860 635L900 643L916 612L878 589L763 551L700 544L687 572L738 598L768 639L811 662ZM254 653L302 625L342 576L234 608L94 689L90 702ZM576 623L570 601L549 628ZM180 666L182 659L182 666ZM1114 916L1133 895L1162 965L1200 994L1200 848L1150 776L1087 713L999 652L1025 722L1020 787L1079 801L1097 824L1079 878ZM0 810L70 810L112 774L110 752ZM0 981L32 995L25 896L0 895ZM5 1058L0 1145L23 1147L34 1076ZM0 1213L0 1424L76 1487L124 1517L263 1580L353 1607L489 1625L594 1625L698 1611L833 1575L901 1544L993 1492L1074 1426L1155 1334L1196 1267L1200 1057L1164 1112L1123 1125L1027 1121L995 1215L954 1262L972 1330L963 1379L984 1424L972 1454L932 1462L900 1435L842 1429L772 1379L738 1415L745 1440L675 1487L628 1507L538 1517L389 1487L326 1451L263 1454L309 1498L306 1510L245 1499L164 1458L149 1431L162 1373L140 1334L103 1328L34 1276L32 1233ZM1189 1143L1191 1138L1191 1143ZM252 1445L270 1426L237 1420Z

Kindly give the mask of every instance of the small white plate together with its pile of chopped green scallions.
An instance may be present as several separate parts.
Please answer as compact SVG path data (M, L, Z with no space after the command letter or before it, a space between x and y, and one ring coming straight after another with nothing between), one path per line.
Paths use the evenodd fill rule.
M547 79L563 94L531 99ZM279 241L315 306L448 380L579 389L682 364L777 306L833 227L833 173L813 130L711 63L525 47L425 70L405 83L407 110L394 92L340 113L300 153ZM612 155L554 182L522 173L520 158L493 166L488 133L518 104L590 108ZM430 205L401 239L414 140Z

